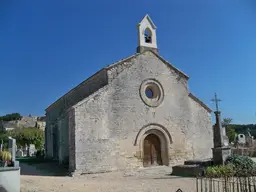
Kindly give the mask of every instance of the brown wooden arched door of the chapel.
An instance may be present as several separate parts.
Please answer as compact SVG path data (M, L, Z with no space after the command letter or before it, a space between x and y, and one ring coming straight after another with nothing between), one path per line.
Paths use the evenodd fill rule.
M161 156L161 141L155 134L149 134L143 142L143 166L163 165Z

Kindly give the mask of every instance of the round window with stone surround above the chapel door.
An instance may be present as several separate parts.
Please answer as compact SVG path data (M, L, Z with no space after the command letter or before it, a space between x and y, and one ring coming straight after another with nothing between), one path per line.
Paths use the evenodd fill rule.
M157 107L163 101L163 88L155 79L147 79L140 86L140 96L146 105Z

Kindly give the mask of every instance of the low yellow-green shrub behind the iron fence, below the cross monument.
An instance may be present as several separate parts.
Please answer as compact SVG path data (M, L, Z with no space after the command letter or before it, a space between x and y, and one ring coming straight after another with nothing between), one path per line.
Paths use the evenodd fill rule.
M232 177L234 175L235 169L232 164L207 167L205 171L206 177Z

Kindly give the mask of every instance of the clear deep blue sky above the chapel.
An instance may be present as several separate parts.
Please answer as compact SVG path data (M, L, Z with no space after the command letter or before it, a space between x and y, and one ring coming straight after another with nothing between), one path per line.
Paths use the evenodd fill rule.
M57 98L136 51L149 14L160 55L224 117L256 123L255 0L0 1L0 115L44 115Z

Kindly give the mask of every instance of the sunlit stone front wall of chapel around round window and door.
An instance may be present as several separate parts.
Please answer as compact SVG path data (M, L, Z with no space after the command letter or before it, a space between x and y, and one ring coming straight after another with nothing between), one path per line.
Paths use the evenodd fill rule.
M170 135L166 150L169 165L208 156L201 154L206 151L201 146L210 150L212 143L200 146L197 142L198 138L212 139L205 131L209 114L189 98L187 79L151 52L131 59L127 66L107 86L72 108L72 169L102 172L142 166L143 137L139 133L150 126ZM108 76L113 77L112 73L116 74L115 69L109 70ZM141 99L139 90L146 79L155 79L163 87L164 99L157 107L149 107Z

